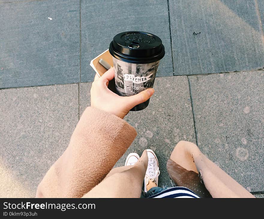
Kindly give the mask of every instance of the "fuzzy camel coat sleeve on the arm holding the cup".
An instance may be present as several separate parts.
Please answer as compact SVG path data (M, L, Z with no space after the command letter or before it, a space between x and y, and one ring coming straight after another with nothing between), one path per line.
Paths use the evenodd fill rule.
M36 197L82 197L105 178L136 135L123 119L87 107L69 146L39 184Z

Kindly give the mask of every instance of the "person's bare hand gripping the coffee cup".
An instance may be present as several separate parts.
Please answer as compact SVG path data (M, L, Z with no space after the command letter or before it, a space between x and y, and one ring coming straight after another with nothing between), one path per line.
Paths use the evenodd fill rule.
M110 68L101 77L95 75L91 88L91 107L104 110L123 119L134 106L147 101L154 94L154 89L148 88L136 95L121 97L107 87L114 76L114 68Z

